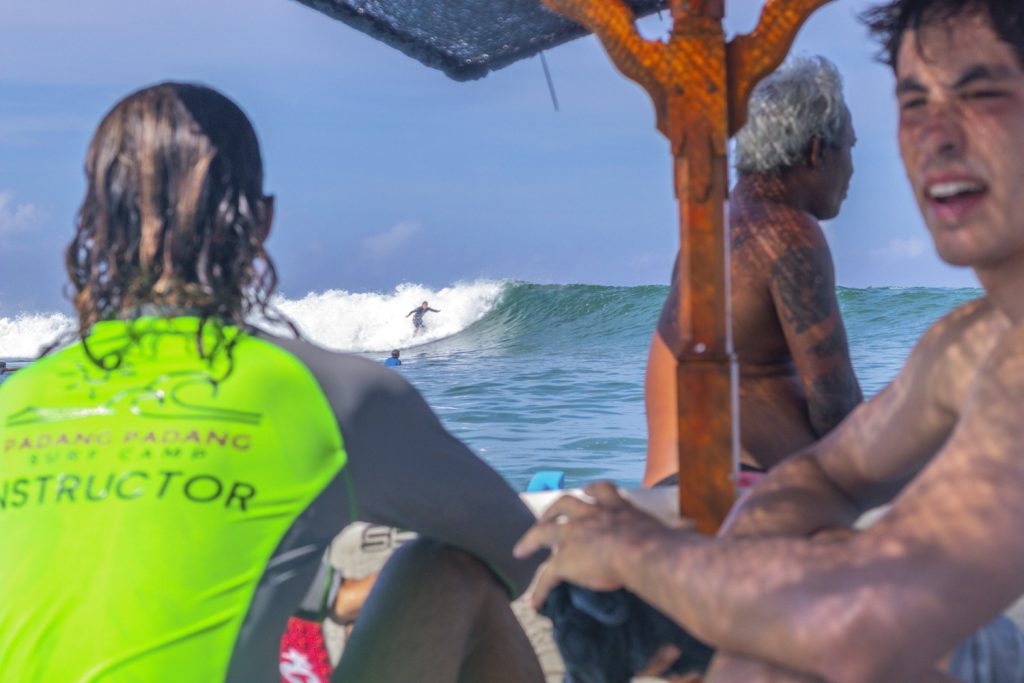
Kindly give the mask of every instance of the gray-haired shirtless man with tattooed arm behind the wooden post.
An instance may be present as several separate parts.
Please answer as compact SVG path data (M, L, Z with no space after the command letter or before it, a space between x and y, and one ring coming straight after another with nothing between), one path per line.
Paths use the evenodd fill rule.
M863 398L818 223L839 214L855 142L842 79L824 57L793 58L762 81L736 136L738 180L729 199L732 339L746 467L767 469L813 443ZM671 481L679 468L678 309L673 274L647 362L646 485Z

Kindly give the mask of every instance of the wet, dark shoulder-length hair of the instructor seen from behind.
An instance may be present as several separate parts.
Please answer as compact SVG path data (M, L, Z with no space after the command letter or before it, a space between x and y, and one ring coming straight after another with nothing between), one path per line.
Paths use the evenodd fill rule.
M220 341L221 324L246 329L253 313L295 332L270 305L278 275L263 241L272 199L256 133L234 102L184 83L134 92L100 122L85 174L66 253L79 338L145 310L200 317L201 353L211 322ZM110 367L115 356L93 359Z

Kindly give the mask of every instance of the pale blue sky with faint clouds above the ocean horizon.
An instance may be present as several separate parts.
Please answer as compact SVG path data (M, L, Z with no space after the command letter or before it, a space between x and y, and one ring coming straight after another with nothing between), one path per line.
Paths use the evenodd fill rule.
M760 0L731 0L731 31ZM934 255L895 145L892 78L854 15L819 10L796 51L846 79L859 142L826 226L839 283L974 286ZM646 35L667 22L642 23ZM0 314L68 309L67 243L103 113L199 81L253 120L276 196L270 251L290 297L460 280L666 283L676 249L668 144L646 94L592 38L457 83L292 0L0 0Z

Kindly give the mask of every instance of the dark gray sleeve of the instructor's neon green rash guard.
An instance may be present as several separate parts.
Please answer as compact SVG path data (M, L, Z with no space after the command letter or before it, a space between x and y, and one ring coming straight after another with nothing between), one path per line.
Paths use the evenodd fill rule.
M512 487L452 436L420 393L380 364L308 342L268 338L301 359L334 409L348 454L358 518L461 548L513 595L539 558L512 557L534 515Z

